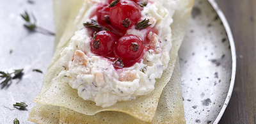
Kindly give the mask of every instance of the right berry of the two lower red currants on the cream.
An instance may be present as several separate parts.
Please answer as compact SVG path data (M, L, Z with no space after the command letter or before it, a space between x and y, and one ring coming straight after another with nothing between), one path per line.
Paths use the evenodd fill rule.
M115 54L120 59L137 60L141 58L144 46L136 35L122 36L115 45Z

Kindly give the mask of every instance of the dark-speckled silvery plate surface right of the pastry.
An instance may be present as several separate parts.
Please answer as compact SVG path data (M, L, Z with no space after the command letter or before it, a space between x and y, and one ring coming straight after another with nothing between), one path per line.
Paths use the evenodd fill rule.
M218 123L233 88L233 61L223 22L208 1L195 1L179 55L186 122Z

